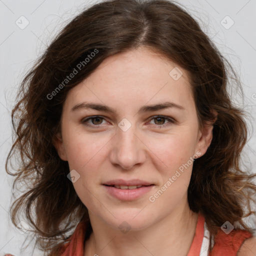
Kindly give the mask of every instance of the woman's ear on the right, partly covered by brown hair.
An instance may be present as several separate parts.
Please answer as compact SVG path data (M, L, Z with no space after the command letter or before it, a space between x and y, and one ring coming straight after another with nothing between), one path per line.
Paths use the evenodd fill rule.
M213 124L217 119L217 112L215 110L212 111L215 116L214 120L210 122L205 122L198 133L199 140L197 141L197 150L201 152L200 156L205 154L212 140Z

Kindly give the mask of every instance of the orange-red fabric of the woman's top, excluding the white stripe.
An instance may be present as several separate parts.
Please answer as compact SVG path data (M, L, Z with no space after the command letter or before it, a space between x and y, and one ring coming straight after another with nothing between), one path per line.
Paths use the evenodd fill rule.
M84 254L84 237L85 222L82 219L76 226L73 234L66 240L65 244L60 247L60 256L83 256ZM187 256L199 256L204 235L204 217L198 214L195 228L195 234L188 251ZM241 229L233 229L229 234L225 234L220 228L214 237L214 246L210 256L235 256L243 241L252 234ZM5 256L13 256L5 254Z

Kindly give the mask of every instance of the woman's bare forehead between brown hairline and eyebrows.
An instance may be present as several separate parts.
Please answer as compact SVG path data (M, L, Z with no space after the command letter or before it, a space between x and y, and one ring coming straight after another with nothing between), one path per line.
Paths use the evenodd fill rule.
M64 104L69 107L93 101L134 109L147 102L172 101L184 108L194 103L186 71L145 47L104 59L93 73L69 90L66 101Z

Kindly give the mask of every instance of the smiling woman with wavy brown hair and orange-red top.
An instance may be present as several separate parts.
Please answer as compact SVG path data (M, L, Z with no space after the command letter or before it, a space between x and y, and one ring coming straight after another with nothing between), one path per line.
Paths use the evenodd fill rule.
M254 255L232 74L171 1L84 10L21 84L13 223L25 207L48 255Z

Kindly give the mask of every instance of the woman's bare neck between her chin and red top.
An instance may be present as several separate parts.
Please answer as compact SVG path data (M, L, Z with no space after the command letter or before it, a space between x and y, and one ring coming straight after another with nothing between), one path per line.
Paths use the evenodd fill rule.
M194 237L197 216L186 203L181 210L173 210L145 229L122 234L90 214L93 232L84 244L84 256L186 256Z

